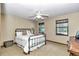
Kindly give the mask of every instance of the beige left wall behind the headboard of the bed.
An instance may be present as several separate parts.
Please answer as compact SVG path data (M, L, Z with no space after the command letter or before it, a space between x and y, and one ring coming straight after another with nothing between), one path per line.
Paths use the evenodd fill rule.
M2 15L2 33L1 40L13 40L15 38L16 28L34 28L34 23L32 21L12 16L12 15Z

